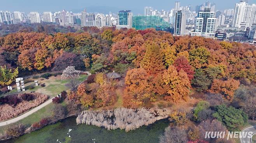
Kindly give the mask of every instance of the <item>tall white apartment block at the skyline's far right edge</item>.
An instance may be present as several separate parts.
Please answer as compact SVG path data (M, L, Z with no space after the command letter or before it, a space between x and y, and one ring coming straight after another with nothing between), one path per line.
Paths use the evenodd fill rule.
M246 29L254 23L256 23L256 4L249 5L244 1L236 3L232 27Z

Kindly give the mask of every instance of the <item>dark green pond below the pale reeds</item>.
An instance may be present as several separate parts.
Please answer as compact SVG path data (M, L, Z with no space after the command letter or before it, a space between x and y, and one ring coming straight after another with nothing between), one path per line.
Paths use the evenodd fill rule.
M57 143L57 140L64 143L69 129L72 129L69 133L70 143L93 143L94 138L95 143L158 143L160 134L163 134L168 124L168 119L162 119L149 126L125 132L86 124L77 125L75 117L69 117L30 134L7 140L5 143Z

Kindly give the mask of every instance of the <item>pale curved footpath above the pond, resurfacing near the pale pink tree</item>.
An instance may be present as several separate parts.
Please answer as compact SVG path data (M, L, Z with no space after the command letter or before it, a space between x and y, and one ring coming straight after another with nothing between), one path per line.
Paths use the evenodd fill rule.
M91 73L89 72L86 72L88 73L88 76L91 75ZM54 97L53 97L54 98ZM47 106L48 104L50 104L52 101L53 101L53 98L47 100L46 102L40 104L39 106L33 108L32 110L18 116L18 117L15 117L13 119L10 119L10 120L7 120L7 121L4 121L4 122L0 122L0 126L5 126L7 124L12 124L12 123L16 123L17 121L25 118L25 117L28 117L30 116L31 114L33 114L34 112L37 112L38 110L42 109L43 107Z

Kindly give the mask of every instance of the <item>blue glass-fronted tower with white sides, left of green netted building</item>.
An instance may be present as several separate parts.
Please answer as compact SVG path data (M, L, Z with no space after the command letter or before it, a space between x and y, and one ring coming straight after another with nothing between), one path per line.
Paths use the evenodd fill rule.
M121 10L117 13L117 29L132 28L133 13L131 10Z

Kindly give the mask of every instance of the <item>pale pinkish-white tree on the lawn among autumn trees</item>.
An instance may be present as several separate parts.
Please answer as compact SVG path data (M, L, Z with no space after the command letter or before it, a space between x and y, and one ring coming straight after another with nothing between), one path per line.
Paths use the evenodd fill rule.
M80 71L75 70L75 66L68 66L61 75L61 80L70 80L71 90L75 90L75 86L78 84L77 78L79 77Z

